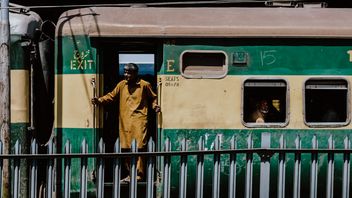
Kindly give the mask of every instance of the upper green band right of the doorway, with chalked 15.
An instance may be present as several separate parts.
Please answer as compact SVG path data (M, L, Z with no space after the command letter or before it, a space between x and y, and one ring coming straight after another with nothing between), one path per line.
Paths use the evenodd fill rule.
M187 50L220 50L228 60L227 75L351 75L350 40L225 40L164 45L160 74L179 74ZM294 41L294 42L293 42ZM192 44L194 43L194 44ZM245 58L244 58L245 57ZM244 61L244 63L241 61ZM238 64L237 64L237 63Z

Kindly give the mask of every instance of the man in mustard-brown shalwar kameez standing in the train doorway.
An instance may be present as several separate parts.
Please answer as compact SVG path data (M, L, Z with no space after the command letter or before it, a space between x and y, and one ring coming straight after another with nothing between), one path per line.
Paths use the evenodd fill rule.
M148 107L155 112L160 111L157 105L157 95L153 92L149 82L138 78L138 66L128 63L124 66L125 80L105 96L93 98L94 105L104 105L113 101L120 101L119 136L122 149L130 149L133 139L136 139L138 149L145 148L147 144ZM129 169L130 164L127 163ZM137 181L144 176L144 166L141 157L137 161ZM129 182L127 176L122 180Z

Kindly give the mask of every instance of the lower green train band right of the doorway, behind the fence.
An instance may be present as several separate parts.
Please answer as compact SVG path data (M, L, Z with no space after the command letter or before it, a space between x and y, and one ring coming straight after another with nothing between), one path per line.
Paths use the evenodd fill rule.
M181 140L183 138L187 139L187 144L189 150L198 150L198 140L200 137L203 137L205 140L205 149L214 150L214 140L217 134L221 136L221 149L230 148L230 140L232 136L237 138L237 148L245 149L247 148L247 137L249 134L252 134L254 148L260 148L261 144L261 134L262 133L271 134L271 148L279 147L279 140L281 134L285 136L286 147L295 148L294 140L297 135L300 136L302 141L302 148L312 148L312 138L314 135L317 136L319 148L328 148L328 138L330 135L334 136L335 148L343 148L343 140L346 136L350 136L351 130L323 130L323 129L313 129L313 130L286 130L286 129L246 129L246 130L212 130L212 129L163 129L161 132L162 139L159 140L161 145L164 145L166 137L169 137L171 140L172 150L180 150ZM268 153L269 154L269 153ZM244 197L245 189L245 178L246 178L246 158L245 154L238 154L237 156L237 195L239 197ZM212 173L213 173L213 155L205 155L204 162L204 195L205 197L211 197L208 195L212 194ZM319 166L318 166L318 189L325 189L326 186L326 173L327 173L327 154L319 154ZM337 154L334 156L335 163L335 183L336 186L342 185L342 167L343 167L343 155ZM286 155L286 193L293 194L293 170L294 170L294 154ZM260 179L260 163L261 159L257 154L253 155L253 186L259 186ZM196 179L196 156L188 157L188 195L194 195L194 186ZM220 197L227 196L227 182L229 176L229 155L221 155L221 175L220 175ZM301 156L301 177L302 185L301 192L303 194L309 193L309 177L310 177L310 165L311 165L311 155L302 154ZM180 171L180 157L172 157L171 159L171 191L173 194L177 194L177 186L179 183L179 171ZM278 154L274 154L270 158L270 197L276 197L277 192L277 178L278 178ZM254 191L254 197L259 197L258 191ZM340 191L336 191L338 196L341 195ZM258 196L257 196L258 195ZM319 191L318 197L325 196L325 191Z

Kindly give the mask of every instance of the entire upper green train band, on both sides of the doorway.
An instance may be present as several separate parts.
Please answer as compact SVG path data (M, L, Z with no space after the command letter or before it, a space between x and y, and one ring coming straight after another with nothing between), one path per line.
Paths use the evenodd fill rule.
M57 74L94 74L97 50L89 36L58 37ZM351 40L324 39L180 39L164 44L160 74L179 74L187 50L220 50L228 59L228 75L351 75ZM246 56L245 63L238 57ZM111 57L103 57L111 58ZM241 58L240 58L241 59ZM171 67L170 67L171 64Z

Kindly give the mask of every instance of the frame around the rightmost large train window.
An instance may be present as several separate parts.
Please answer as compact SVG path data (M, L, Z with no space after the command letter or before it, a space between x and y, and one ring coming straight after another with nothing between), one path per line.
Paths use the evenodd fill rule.
M346 95L346 121L345 122L307 122L306 120L306 84L308 81L319 81L319 80L327 80L327 81L345 81L347 85L347 95ZM351 91L350 91L350 82L347 78L344 77L312 77L308 78L303 82L303 122L306 126L310 128L337 128L347 126L351 122Z

